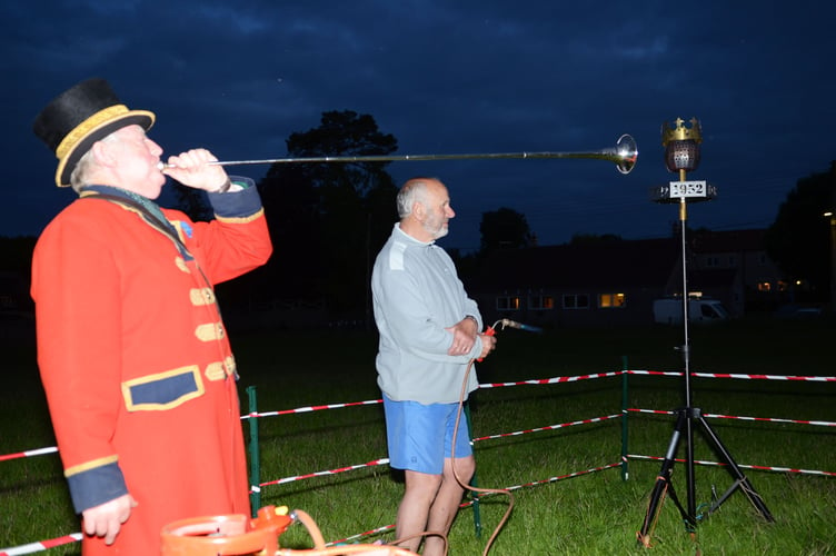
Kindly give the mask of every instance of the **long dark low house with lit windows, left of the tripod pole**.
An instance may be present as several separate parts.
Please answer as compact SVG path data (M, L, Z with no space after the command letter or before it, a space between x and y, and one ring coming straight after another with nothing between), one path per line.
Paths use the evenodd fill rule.
M608 240L497 250L467 289L486 324L540 327L653 322L679 258L674 239Z

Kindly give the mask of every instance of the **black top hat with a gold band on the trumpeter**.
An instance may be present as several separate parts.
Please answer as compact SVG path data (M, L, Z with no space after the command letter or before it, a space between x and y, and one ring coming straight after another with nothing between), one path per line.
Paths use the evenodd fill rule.
M126 126L148 130L153 112L129 110L103 79L88 79L56 97L34 120L34 135L58 157L56 183L69 187L79 159L99 141Z

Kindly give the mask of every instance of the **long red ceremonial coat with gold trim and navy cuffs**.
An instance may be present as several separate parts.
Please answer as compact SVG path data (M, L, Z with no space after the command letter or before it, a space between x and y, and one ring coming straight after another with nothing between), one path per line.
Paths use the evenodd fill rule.
M38 363L78 513L130 493L111 546L153 556L162 526L250 513L236 365L212 286L267 261L255 187L210 196L216 219L165 210L186 250L136 210L78 199L32 261Z

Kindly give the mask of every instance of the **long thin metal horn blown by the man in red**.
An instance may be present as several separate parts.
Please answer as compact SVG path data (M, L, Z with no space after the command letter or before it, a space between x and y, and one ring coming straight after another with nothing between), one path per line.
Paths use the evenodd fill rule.
M591 158L615 162L621 173L629 173L636 166L638 148L636 141L628 133L618 138L615 147L593 152L494 152L484 155L369 155L345 157L301 157L301 158L270 158L265 160L217 160L209 162L215 166L239 165L271 165L271 163L310 163L310 162L391 162L397 160L464 160L464 159L500 159L500 158ZM160 170L172 168L165 162L159 163Z

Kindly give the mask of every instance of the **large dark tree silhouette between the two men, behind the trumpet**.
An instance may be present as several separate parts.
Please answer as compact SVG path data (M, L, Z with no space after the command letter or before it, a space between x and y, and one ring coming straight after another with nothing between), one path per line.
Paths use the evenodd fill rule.
M394 136L350 110L287 140L289 158L385 156ZM388 162L273 163L259 182L276 255L265 269L273 295L325 299L335 318L369 315L374 257L397 220ZM258 275L257 275L258 276Z

